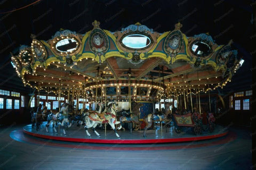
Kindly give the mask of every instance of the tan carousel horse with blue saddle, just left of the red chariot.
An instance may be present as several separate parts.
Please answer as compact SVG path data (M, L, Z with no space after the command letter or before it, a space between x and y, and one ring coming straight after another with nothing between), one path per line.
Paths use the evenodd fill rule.
M153 113L153 114L148 114L147 116L145 116L143 118L143 122L146 123L146 126L144 128L144 131L143 131L143 137L146 138L146 131L151 127L152 123L154 121L157 121L157 122L166 122L166 124L169 124L171 122L171 120L168 117L169 113L170 113L170 104L169 103L166 103L165 104L165 108L166 109L162 109L163 112L158 112L158 113Z

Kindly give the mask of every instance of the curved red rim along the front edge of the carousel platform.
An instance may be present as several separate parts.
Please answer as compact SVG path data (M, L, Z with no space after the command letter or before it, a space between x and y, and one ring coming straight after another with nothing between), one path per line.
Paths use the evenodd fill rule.
M145 139L82 139L82 138L54 137L51 135L44 135L44 134L29 132L25 129L23 129L23 132L25 132L26 134L32 135L33 137L39 137L44 139L69 141L69 142L83 142L83 143L117 143L117 144L189 142L189 141L219 138L228 134L228 131L227 131L220 134L205 135L201 137L189 137L189 138L187 137L187 138L169 138L169 139L146 139L146 138Z

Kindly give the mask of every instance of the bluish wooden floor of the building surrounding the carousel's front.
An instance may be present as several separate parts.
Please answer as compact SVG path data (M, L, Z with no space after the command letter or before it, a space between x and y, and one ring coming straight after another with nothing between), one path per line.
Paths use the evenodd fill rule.
M114 145L36 138L23 126L0 129L0 169L252 169L245 128L204 141Z

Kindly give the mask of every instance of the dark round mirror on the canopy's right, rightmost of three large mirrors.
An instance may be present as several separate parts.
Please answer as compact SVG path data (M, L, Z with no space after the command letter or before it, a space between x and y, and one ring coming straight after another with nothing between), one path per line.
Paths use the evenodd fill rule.
M196 56L206 56L211 53L211 47L202 41L193 43L191 49Z

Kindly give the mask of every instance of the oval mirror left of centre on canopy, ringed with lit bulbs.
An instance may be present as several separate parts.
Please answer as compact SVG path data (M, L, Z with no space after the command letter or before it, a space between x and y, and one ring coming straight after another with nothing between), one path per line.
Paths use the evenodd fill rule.
M55 47L59 52L72 52L76 49L77 42L74 39L66 38L60 40Z

